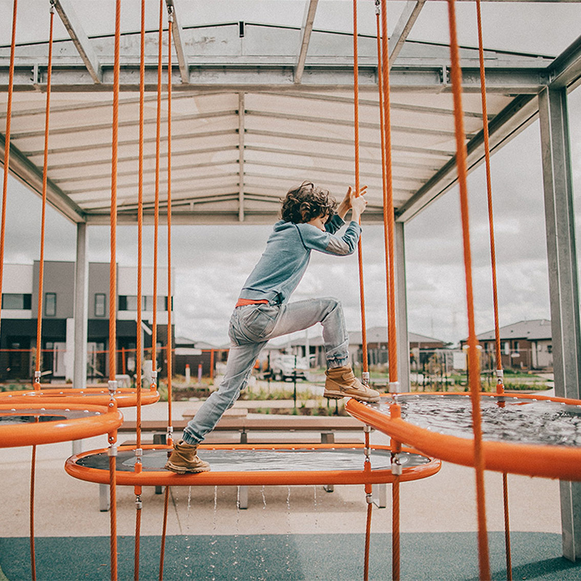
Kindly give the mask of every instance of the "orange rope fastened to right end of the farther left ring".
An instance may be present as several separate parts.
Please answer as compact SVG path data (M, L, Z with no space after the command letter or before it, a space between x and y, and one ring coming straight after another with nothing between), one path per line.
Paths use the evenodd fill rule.
M162 46L163 0L159 0L159 33L157 37L157 118L155 138L155 210L153 213L153 324L151 335L152 370L157 370L157 247L159 243L159 165L162 136Z

